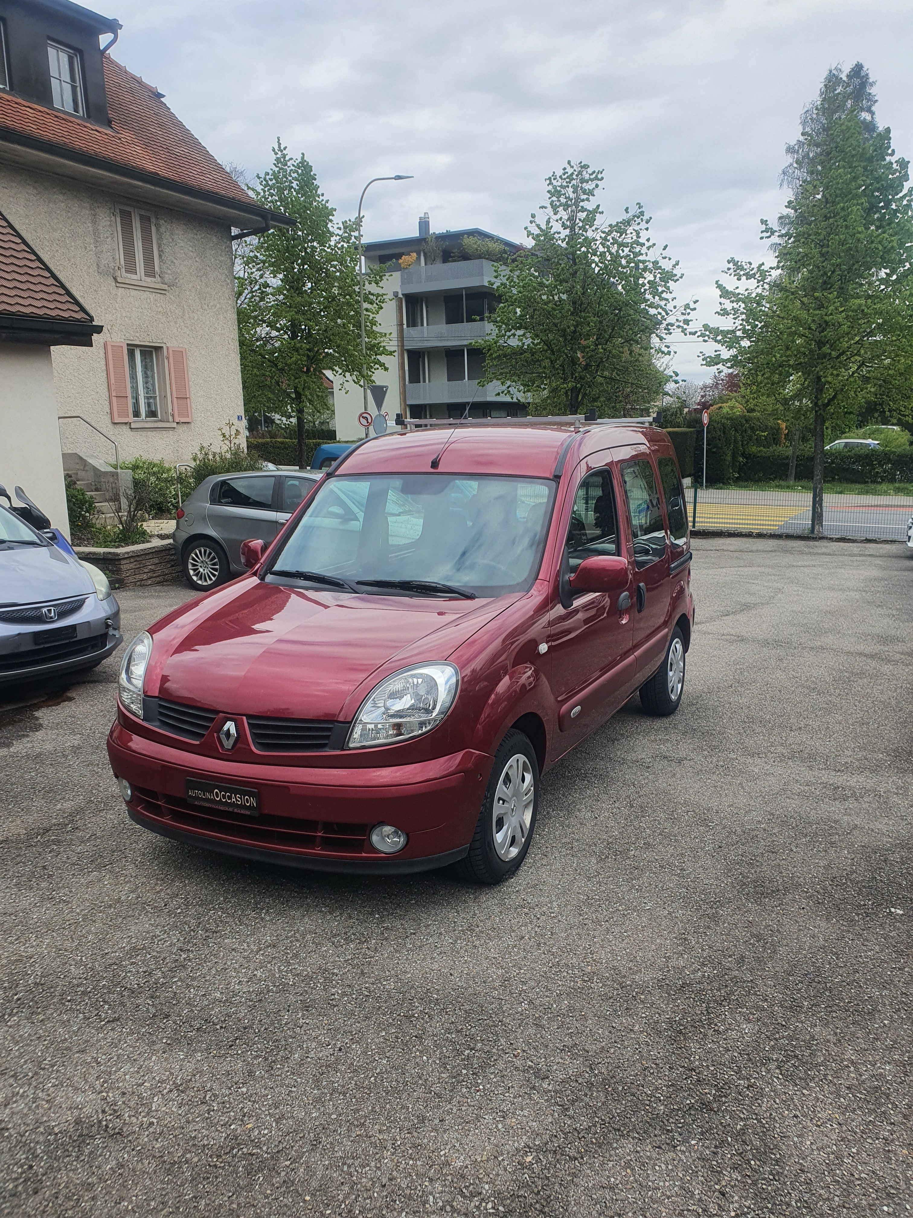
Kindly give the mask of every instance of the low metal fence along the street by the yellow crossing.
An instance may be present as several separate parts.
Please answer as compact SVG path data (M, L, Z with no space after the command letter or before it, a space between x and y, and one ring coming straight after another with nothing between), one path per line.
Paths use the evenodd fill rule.
M811 491L749 491L693 486L685 491L691 529L708 532L808 533ZM825 537L906 541L909 495L824 495Z

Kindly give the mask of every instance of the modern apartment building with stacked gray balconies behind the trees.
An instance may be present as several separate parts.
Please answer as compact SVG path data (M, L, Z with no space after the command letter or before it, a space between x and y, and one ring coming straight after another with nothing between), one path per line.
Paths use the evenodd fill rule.
M489 284L494 263L467 258L464 238L500 242L509 252L519 246L483 229L433 234L437 261L430 261L431 220L419 219L415 236L370 241L364 246L368 267L385 267L385 303L379 322L390 335L394 354L377 374L386 384L385 412L391 421L405 407L411 419L511 418L526 407L502 385L480 385L482 353L471 343L484 336L487 318L497 301ZM414 258L413 258L414 256ZM403 302L402 359L397 334L397 297ZM401 378L401 365L405 375ZM402 384L401 384L402 381ZM336 434L341 440L362 435L360 385L337 385Z

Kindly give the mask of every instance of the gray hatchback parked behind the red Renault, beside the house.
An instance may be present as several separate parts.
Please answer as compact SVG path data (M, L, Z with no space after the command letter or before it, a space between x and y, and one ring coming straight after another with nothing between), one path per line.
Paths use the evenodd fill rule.
M241 542L273 541L319 474L214 474L178 509L174 544L191 588L206 592L245 570Z

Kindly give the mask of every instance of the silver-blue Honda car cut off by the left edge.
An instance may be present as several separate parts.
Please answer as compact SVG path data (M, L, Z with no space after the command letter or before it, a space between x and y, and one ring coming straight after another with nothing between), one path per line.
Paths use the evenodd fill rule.
M94 669L119 646L103 572L0 507L0 686Z

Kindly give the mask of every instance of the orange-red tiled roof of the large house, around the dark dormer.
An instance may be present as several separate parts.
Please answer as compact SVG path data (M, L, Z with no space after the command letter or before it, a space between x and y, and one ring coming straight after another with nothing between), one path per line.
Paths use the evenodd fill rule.
M30 136L257 208L151 85L110 55L103 63L110 128L0 91L0 141L5 132Z

